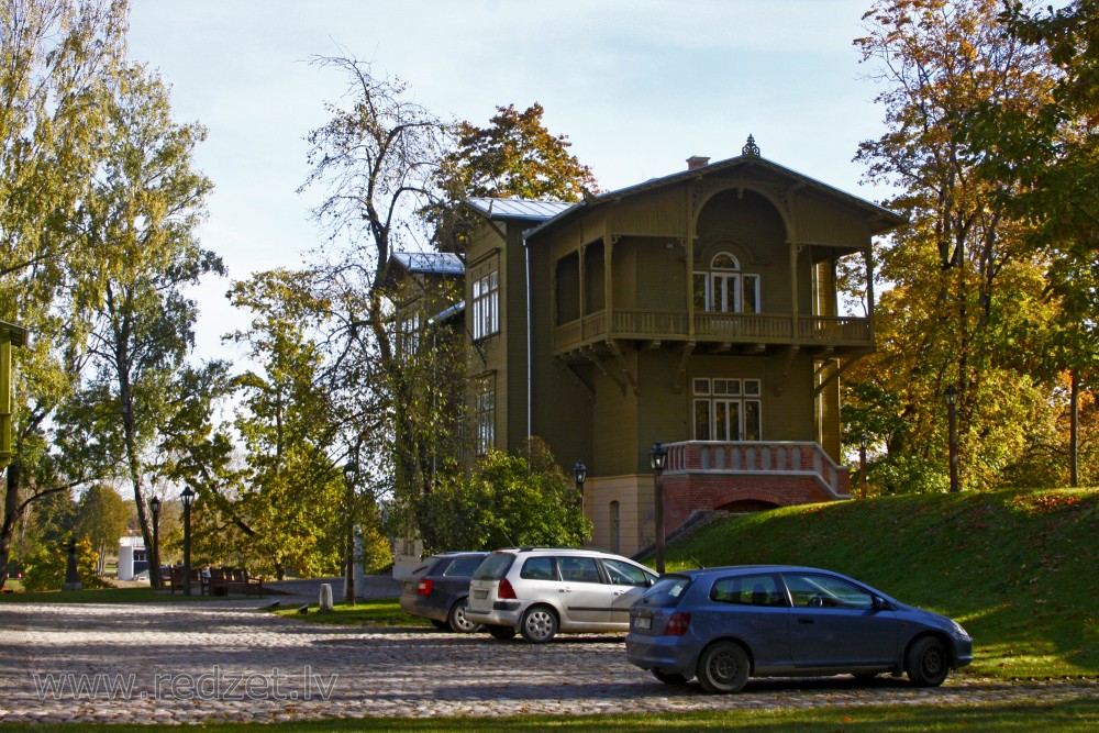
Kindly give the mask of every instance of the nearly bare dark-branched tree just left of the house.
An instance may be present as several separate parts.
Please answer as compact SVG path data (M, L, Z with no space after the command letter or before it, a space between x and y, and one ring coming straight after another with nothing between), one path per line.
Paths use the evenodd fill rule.
M434 180L449 144L447 127L411 101L400 79L376 76L355 58L314 60L346 75L353 99L347 109L329 105L331 121L310 133L312 170L302 186L326 187L326 198L313 215L332 243L319 253L324 263L319 269L328 279L329 301L342 316L331 337L345 347L334 352L355 352L367 359L357 374L359 393L384 393L390 404L410 404L418 385L401 369L385 289L391 253L401 243L420 246L409 236L419 225L415 211L436 198ZM389 418L392 423L385 429L401 436L393 453L396 490L418 497L425 481L421 446L406 440L418 434L417 426L399 409ZM370 421L365 419L352 435L369 434Z

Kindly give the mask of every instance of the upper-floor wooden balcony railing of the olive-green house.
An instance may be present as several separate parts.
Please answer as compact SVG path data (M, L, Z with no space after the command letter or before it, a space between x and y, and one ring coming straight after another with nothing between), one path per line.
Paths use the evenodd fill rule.
M610 318L599 311L557 326L554 353L563 355L610 340L739 344L755 351L773 345L865 349L873 345L874 334L869 319L850 315L799 315L795 320L789 314L696 312L691 319L685 311L615 309Z

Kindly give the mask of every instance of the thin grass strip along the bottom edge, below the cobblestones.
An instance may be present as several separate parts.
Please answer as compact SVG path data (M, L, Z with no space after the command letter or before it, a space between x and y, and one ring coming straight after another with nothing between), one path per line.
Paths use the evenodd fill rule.
M515 718L435 718L409 720L404 718L365 718L355 720L325 720L319 722L279 723L282 733L321 733L326 731L458 731L460 733L506 733L530 731L565 731L568 733L603 733L606 731L745 731L777 733L799 731L804 733L858 733L863 731L890 731L891 733L955 733L958 730L983 733L1011 733L1017 731L1063 731L1091 733L1099 717L1099 700L1074 700L1050 704L987 704L987 706L875 706L864 708L755 711L733 710L691 712L682 714L581 715L548 717L523 715ZM9 730L35 733L70 733L69 725L19 724ZM257 723L210 723L188 725L184 730L218 731L219 733L260 733L274 726ZM154 725L87 725L81 733L130 733L133 731L163 730Z

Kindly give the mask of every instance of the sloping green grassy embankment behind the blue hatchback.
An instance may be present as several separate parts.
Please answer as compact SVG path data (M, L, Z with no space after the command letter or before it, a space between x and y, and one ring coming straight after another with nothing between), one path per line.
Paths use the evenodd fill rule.
M784 563L858 578L974 637L962 674L1099 674L1099 490L906 496L718 521L668 568Z

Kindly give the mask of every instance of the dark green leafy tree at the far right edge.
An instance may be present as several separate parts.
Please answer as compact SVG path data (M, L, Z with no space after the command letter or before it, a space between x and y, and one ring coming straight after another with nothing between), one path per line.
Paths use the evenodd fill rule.
M967 120L972 145L993 149L979 168L986 179L1009 180L1002 206L1030 224L1028 243L1050 263L1052 299L1061 307L1050 338L1048 367L1070 382L1067 460L1079 484L1079 402L1094 389L1099 325L1095 313L1099 251L1099 3L1076 0L1036 12L1006 3L1001 20L1020 41L1050 53L1059 76L1037 110L978 107ZM1063 463L1057 460L1056 463Z

